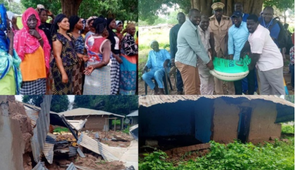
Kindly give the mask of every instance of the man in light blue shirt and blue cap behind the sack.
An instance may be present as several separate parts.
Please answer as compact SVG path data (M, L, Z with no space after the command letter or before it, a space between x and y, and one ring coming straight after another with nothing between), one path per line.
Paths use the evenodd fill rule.
M243 13L235 11L231 16L234 25L228 30L228 54L230 60L240 60L240 53L245 42L248 40L249 31L247 23L242 21ZM248 95L253 95L255 92L255 70L250 70L247 75L248 79ZM235 81L235 94L242 95L242 80Z

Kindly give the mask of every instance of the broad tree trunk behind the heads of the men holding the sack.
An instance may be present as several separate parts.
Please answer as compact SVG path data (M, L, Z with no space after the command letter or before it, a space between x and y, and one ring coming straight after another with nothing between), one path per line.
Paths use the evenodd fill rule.
M212 16L212 0L190 0L191 8L198 9L202 14ZM230 17L234 12L236 2L243 3L243 13L256 14L259 16L262 10L263 0L221 0L225 4L224 15Z

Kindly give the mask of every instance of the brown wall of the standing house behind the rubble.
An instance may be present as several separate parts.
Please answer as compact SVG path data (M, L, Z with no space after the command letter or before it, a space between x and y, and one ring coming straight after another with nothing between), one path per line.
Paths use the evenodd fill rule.
M90 115L88 116L77 116L75 118L73 118L74 120L84 120L87 119L87 122L85 124L85 128L82 129L82 131L85 130L99 130L99 131L103 131L104 130L104 124L105 124L105 118L108 118L108 115L104 115L104 116L95 116L95 115ZM68 118L67 118L68 119ZM106 124L109 125L109 121L106 120Z

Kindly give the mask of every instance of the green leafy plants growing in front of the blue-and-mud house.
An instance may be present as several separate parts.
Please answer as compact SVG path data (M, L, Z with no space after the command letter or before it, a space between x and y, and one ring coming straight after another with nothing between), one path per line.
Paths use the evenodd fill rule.
M185 162L180 160L177 166L169 161L166 153L156 151L144 154L139 160L141 170L294 170L294 137L289 141L255 146L234 141L220 144L211 141L210 152L203 157Z

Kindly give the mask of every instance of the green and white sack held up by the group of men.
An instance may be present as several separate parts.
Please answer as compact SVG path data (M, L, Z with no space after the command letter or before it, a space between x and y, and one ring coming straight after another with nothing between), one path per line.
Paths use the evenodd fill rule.
M210 73L223 81L238 81L248 75L250 63L251 58L248 55L239 61L215 57L213 60L214 69L210 70Z

